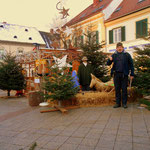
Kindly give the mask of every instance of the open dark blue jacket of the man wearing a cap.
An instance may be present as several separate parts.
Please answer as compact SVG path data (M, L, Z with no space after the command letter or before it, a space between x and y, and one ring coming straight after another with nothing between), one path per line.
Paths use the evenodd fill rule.
M123 73L124 73L124 75L129 75L129 72L131 71L130 75L134 76L134 67L133 67L133 60L131 58L131 55L129 53L127 53L126 51L123 51L122 53L123 53ZM111 76L117 70L116 69L117 55L118 55L118 52L116 51L111 56L113 58L113 60L111 61L110 59L108 59L108 61L107 61L107 65L111 65L113 62L113 67L111 69Z

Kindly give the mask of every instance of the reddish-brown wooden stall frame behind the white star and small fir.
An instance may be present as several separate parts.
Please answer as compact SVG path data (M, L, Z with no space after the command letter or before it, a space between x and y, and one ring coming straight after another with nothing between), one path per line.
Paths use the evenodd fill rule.
M18 62L21 63L24 69L23 73L27 81L25 93L28 94L29 91L39 90L38 84L40 79L42 79L43 75L49 74L49 69L47 67L55 62L53 56L60 59L67 56L66 62L72 65L68 71L78 71L78 66L80 65L80 54L81 51L77 50L39 49L17 56Z

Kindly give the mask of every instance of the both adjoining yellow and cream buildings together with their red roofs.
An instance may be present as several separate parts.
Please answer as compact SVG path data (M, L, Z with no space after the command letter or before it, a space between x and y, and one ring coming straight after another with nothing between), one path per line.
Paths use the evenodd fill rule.
M92 26L92 31L96 32L97 42L106 43L104 52L113 53L116 43L123 42L125 50L132 55L134 47L150 43L141 38L147 36L150 29L150 1L93 0L92 5L69 21L66 26L81 30L78 35L81 42L86 40L83 33ZM72 35L70 39L73 44L75 39Z

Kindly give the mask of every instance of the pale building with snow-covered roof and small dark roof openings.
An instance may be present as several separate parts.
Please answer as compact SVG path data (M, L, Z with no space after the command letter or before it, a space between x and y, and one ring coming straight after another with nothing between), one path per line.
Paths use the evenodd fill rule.
M0 23L0 60L6 52L21 55L32 51L35 43L45 48L45 42L35 27Z

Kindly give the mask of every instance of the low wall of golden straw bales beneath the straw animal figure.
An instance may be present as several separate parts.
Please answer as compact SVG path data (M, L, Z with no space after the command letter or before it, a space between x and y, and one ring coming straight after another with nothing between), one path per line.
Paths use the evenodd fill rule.
M128 103L135 102L138 98L137 92L131 89L131 95L128 97ZM51 107L57 105L58 102L48 100ZM62 106L80 106L80 107L96 107L96 106L110 106L115 104L115 92L98 92L98 91L88 91L80 92L76 97L64 100Z

